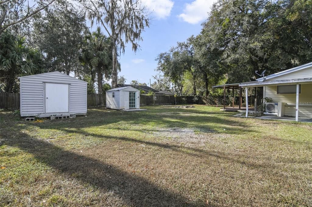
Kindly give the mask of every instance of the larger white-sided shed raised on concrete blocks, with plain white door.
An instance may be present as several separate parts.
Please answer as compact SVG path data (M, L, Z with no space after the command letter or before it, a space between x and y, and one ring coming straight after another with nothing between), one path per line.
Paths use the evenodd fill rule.
M22 76L19 79L22 117L87 113L87 82L58 71Z

